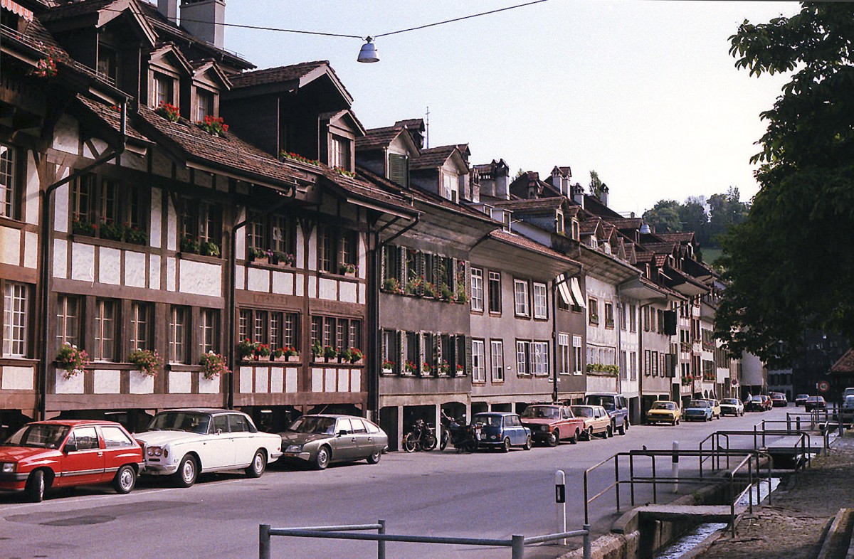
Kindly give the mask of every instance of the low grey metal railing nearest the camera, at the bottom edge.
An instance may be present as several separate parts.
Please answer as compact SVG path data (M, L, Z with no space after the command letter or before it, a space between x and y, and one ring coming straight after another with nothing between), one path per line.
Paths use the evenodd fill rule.
M354 533L376 530L377 533ZM273 528L269 524L260 524L258 527L258 556L260 559L271 557L271 537L288 536L291 538L319 538L319 539L349 539L377 542L377 559L385 559L386 542L407 542L411 544L456 544L456 545L478 545L486 547L509 547L512 559L524 559L525 546L543 544L566 538L583 538L584 559L590 559L592 548L590 544L590 525L585 524L581 530L572 530L564 533L550 533L543 536L526 538L525 536L513 535L510 539L485 539L485 538L453 538L447 536L415 536L404 534L391 534L385 531L385 521L377 521L376 524L350 524L342 526L314 526L295 528Z

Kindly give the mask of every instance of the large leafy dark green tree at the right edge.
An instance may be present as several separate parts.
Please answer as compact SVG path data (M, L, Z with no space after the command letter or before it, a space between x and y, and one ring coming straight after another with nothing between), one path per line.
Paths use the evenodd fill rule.
M776 364L805 329L854 338L854 5L803 3L792 17L745 21L736 67L791 73L753 157L759 192L725 236L728 288L716 333L733 354ZM783 343L781 343L783 342Z

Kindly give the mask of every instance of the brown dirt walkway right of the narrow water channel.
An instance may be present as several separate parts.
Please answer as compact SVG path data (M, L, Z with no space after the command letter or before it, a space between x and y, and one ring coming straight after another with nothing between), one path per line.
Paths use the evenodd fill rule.
M729 532L694 559L810 559L839 509L854 507L854 433L834 441L828 457L789 478L771 496L772 504L753 508ZM843 556L845 556L843 554Z

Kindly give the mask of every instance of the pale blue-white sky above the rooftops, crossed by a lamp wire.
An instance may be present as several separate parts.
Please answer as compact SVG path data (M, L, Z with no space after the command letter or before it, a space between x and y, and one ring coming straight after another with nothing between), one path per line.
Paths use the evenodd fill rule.
M225 22L366 37L524 0L226 0ZM743 20L794 15L793 2L547 0L375 40L225 28L225 49L256 67L328 60L366 128L427 118L430 147L468 143L471 164L503 158L547 178L594 170L617 212L659 200L757 192L750 158L787 76L735 68Z

